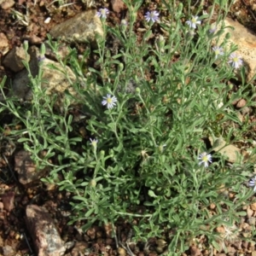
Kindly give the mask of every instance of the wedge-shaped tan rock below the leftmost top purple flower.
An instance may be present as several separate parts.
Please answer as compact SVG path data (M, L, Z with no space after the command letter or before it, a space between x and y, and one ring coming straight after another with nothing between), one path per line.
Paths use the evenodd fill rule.
M49 34L67 43L96 43L96 34L103 37L102 21L96 10L87 10L54 26Z

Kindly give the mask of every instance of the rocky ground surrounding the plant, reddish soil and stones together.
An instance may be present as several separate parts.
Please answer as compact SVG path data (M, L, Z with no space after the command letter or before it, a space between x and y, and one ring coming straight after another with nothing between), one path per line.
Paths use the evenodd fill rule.
M65 3L60 6L59 2ZM107 20L110 26L119 24L120 20L125 18L125 4L121 0L59 2L0 0L0 81L4 75L12 79L13 91L9 93L23 100L31 97L31 92L26 87L27 73L22 65L26 55L21 44L25 40L30 45L32 73L37 74L38 58L40 58L38 46L45 41L47 33L54 38L61 37L67 42L61 49L62 55L67 52L66 47L69 44L76 44L79 51L83 52L84 42L89 40L90 44L94 44L95 32L102 33L102 23L95 16L96 9L102 7L110 9ZM145 11L154 9L159 2L155 0L147 5L145 3L143 5L145 9L139 10L135 26L138 38ZM209 5L210 3L206 3L206 10ZM248 69L247 80L253 79L256 71L256 38L251 31L256 28L256 3L249 0L236 1L229 16L226 22L235 27L231 40L241 49L240 54ZM250 31L247 31L247 28ZM51 57L45 62L49 64L55 56L52 56L50 51L47 52L47 56ZM69 72L72 79L74 75L71 70ZM74 93L61 73L55 73L55 76L52 76L45 67L44 76L50 81L47 85L48 94L64 90ZM61 105L61 102L59 103ZM246 103L241 99L234 102L234 106L243 108ZM241 119L250 111L250 108L243 108ZM119 254L125 256L135 253L140 256L154 256L165 251L166 241L157 238L148 241L147 246L140 243L136 246L127 245L126 241L131 239L131 226L121 220L116 224L117 239L112 237L112 227L108 225L95 225L86 233L80 230L82 222L67 225L68 216L72 214L68 204L71 195L55 187L46 187L38 180L39 177L44 177L44 172L35 172L36 167L30 154L23 150L22 145L8 138L11 117L9 114L3 114L0 119L3 129L0 141L0 255L103 254L108 256ZM253 115L250 119L255 122ZM229 151L230 162L233 162L236 160L236 152L241 152L241 148L231 145L230 148L225 148L225 151ZM255 199L252 198L252 200ZM236 237L227 240L225 246L228 248L229 255L255 256L255 244L243 241L239 237L251 236L250 230L256 222L256 204L252 203L243 210L246 214L241 218L241 224L233 227L238 231ZM223 227L219 227L218 231L226 234ZM226 255L215 249L209 251L204 246L204 241L201 237L197 241L197 246L191 244L189 251L183 255Z

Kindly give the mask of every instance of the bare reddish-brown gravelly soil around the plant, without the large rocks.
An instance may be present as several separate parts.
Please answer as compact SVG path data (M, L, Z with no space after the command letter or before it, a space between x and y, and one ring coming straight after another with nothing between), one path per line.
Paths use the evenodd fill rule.
M24 40L28 40L29 44L40 45L44 42L46 34L49 29L57 23L61 23L64 20L69 19L73 15L79 14L79 12L87 9L87 6L83 1L51 1L45 0L37 2L36 0L16 0L12 1L0 1L2 8L0 8L0 32L3 32L9 41L9 49L15 46L20 46ZM61 3L62 2L62 3ZM64 3L65 2L65 3ZM108 17L108 23L115 24L120 22L125 13L119 12L119 7L113 7L115 1L96 1L90 8L99 9L102 6L111 10L111 14ZM146 9L157 6L159 0L144 1L143 8L140 9L140 13L137 15L137 23L135 29L139 34L140 19L143 19L143 15ZM206 1L204 9L207 9L211 3ZM115 11L113 11L115 9ZM256 3L250 0L238 0L233 4L230 17L239 20L241 24L248 28L255 30L256 28ZM49 23L46 21L51 18ZM1 61L3 61L3 53L0 53ZM9 70L0 66L0 80L3 79L3 75L7 75L8 78L12 78L14 75ZM0 117L1 124L8 127L9 115L4 114ZM3 128L3 125L1 125ZM8 129L4 132L8 132ZM2 147L9 144L2 143ZM15 142L12 142L16 144ZM14 145L14 148L20 147L20 145ZM20 148L18 148L20 149ZM17 148L16 148L17 150ZM12 151L12 150L11 150ZM115 242L111 238L106 238L102 234L106 231L106 227L95 226L88 230L86 234L81 234L76 227L68 226L68 215L71 214L70 206L68 205L69 195L65 191L58 191L56 188L46 188L43 183L33 183L28 186L21 185L16 179L16 173L11 172L14 165L14 155L7 153L2 149L1 162L0 162L0 194L4 195L2 201L7 201L10 204L11 212L6 210L6 205L3 209L3 203L0 202L0 247L9 245L14 255L32 255L33 246L32 238L26 230L26 224L24 222L25 209L28 204L37 204L39 206L44 205L49 210L50 214L57 221L56 226L61 233L61 238L64 241L86 241L86 245L89 248L93 248L94 254L98 255L103 250L108 251L109 255L117 254ZM9 164L7 163L7 160ZM13 191L14 193L6 194L5 191ZM15 196L14 196L15 195ZM7 204L8 204L7 203ZM12 205L13 204L13 205ZM119 223L120 236L125 240L128 236L130 227L128 224ZM104 241L102 243L102 241ZM202 239L203 241L203 239ZM152 243L157 246L160 241L153 241ZM238 242L239 243L239 242ZM243 244L242 244L243 243ZM233 253L244 253L242 247L250 248L249 244L244 244L243 241L240 245L236 244L236 248ZM232 244L232 240L227 245ZM247 250L249 252L250 249ZM253 251L253 247L252 250ZM13 255L11 252L1 252L0 254ZM123 253L123 254L122 254ZM145 253L145 252L144 252ZM140 253L142 256L144 253ZM197 254L197 248L191 247L187 255L199 255ZM209 252L208 252L209 253ZM91 253L90 255L92 255ZM105 255L108 255L105 254ZM120 255L124 255L124 252L119 251ZM149 252L149 255L155 255L155 252ZM207 255L207 251L205 251ZM35 255L35 254L34 254ZM67 254L70 255L70 254ZM75 255L75 254L74 254ZM238 255L238 254L237 254ZM242 255L242 254L240 254ZM251 255L251 254L248 254Z

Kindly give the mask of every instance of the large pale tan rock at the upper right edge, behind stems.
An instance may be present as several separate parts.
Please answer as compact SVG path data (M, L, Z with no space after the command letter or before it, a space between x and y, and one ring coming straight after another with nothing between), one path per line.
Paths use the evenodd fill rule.
M228 48L231 44L236 44L238 49L236 54L240 55L247 66L247 81L253 79L256 73L256 35L242 26L238 21L226 18L224 20L224 33L220 35L218 44L224 42L227 33L230 33ZM218 25L220 29L221 24ZM234 29L233 29L234 27Z

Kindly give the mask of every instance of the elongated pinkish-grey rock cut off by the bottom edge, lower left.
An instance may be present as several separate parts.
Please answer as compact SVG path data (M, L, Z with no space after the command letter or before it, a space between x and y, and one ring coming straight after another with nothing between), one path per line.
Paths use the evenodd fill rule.
M26 226L32 237L38 256L61 256L66 247L61 240L54 220L44 207L28 205L26 207Z

